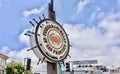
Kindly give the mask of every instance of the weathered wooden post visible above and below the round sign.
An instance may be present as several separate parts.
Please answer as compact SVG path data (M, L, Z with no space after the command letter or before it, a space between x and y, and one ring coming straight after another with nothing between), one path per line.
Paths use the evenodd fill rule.
M56 20L55 11L53 10L53 0L48 4L48 18ZM57 74L57 63L47 62L47 74Z

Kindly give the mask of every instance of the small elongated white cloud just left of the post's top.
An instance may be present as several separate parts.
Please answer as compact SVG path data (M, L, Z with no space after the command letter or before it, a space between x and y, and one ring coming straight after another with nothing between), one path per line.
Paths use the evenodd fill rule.
M40 14L40 13L44 12L45 9L47 9L46 7L47 7L47 5L43 5L40 8L35 8L35 9L32 9L32 10L25 10L23 12L23 15L25 17L29 17L30 15L33 15L33 14Z

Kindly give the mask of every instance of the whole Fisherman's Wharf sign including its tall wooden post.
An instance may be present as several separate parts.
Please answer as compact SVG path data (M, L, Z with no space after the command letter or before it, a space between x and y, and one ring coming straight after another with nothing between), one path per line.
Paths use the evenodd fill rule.
M31 49L41 62L47 62L47 74L57 74L57 62L69 54L69 39L63 27L56 22L53 0L48 4L48 18L33 25L30 33ZM27 34L26 34L27 35Z

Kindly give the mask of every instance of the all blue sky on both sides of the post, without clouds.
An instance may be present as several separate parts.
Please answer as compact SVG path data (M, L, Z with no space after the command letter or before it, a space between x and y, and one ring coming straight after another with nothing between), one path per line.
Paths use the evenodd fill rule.
M84 0L81 0L81 2ZM13 49L19 49L26 47L24 44L20 43L18 40L18 35L26 28L30 27L28 23L32 18L38 18L42 13L31 15L29 18L25 18L23 12L25 10L39 9L41 6L46 6L49 0L34 0L34 1L16 1L16 0L0 0L0 48L2 46L9 46ZM87 2L87 1L86 1ZM66 3L68 5L66 5ZM57 20L61 23L83 23L86 25L96 25L100 19L97 15L100 12L108 14L110 12L116 12L119 7L117 7L117 0L91 0L82 10L77 10L79 8L79 0L65 0L65 1L55 1L55 10L57 13ZM81 6L82 7L82 6ZM98 10L97 10L98 9ZM116 10L115 10L116 9ZM96 12L94 17L96 19L91 19L91 14ZM47 9L44 12L47 16Z

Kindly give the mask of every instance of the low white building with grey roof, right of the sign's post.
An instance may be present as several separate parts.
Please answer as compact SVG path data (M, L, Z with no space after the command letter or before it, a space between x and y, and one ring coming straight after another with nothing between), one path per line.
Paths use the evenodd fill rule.
M103 74L107 72L106 66L98 65L97 60L70 61L70 72L64 70L63 74Z

